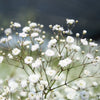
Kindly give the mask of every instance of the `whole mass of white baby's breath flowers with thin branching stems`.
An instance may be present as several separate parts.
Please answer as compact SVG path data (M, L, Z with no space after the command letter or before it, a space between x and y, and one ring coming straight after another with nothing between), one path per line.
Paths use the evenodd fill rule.
M1 79L0 100L100 99L99 46L84 38L86 30L71 35L77 22L66 19L68 30L49 25L54 34L47 46L42 24L28 21L21 29L20 23L11 22L10 28L2 29L0 63L23 70L18 74L25 77Z

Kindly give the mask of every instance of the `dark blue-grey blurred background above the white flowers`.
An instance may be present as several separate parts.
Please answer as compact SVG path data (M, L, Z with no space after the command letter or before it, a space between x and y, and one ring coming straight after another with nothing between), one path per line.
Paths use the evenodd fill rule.
M88 31L87 37L100 39L100 0L0 0L0 27L10 21L27 25L35 21L45 25L60 24L66 28L65 19L78 19L74 33Z

